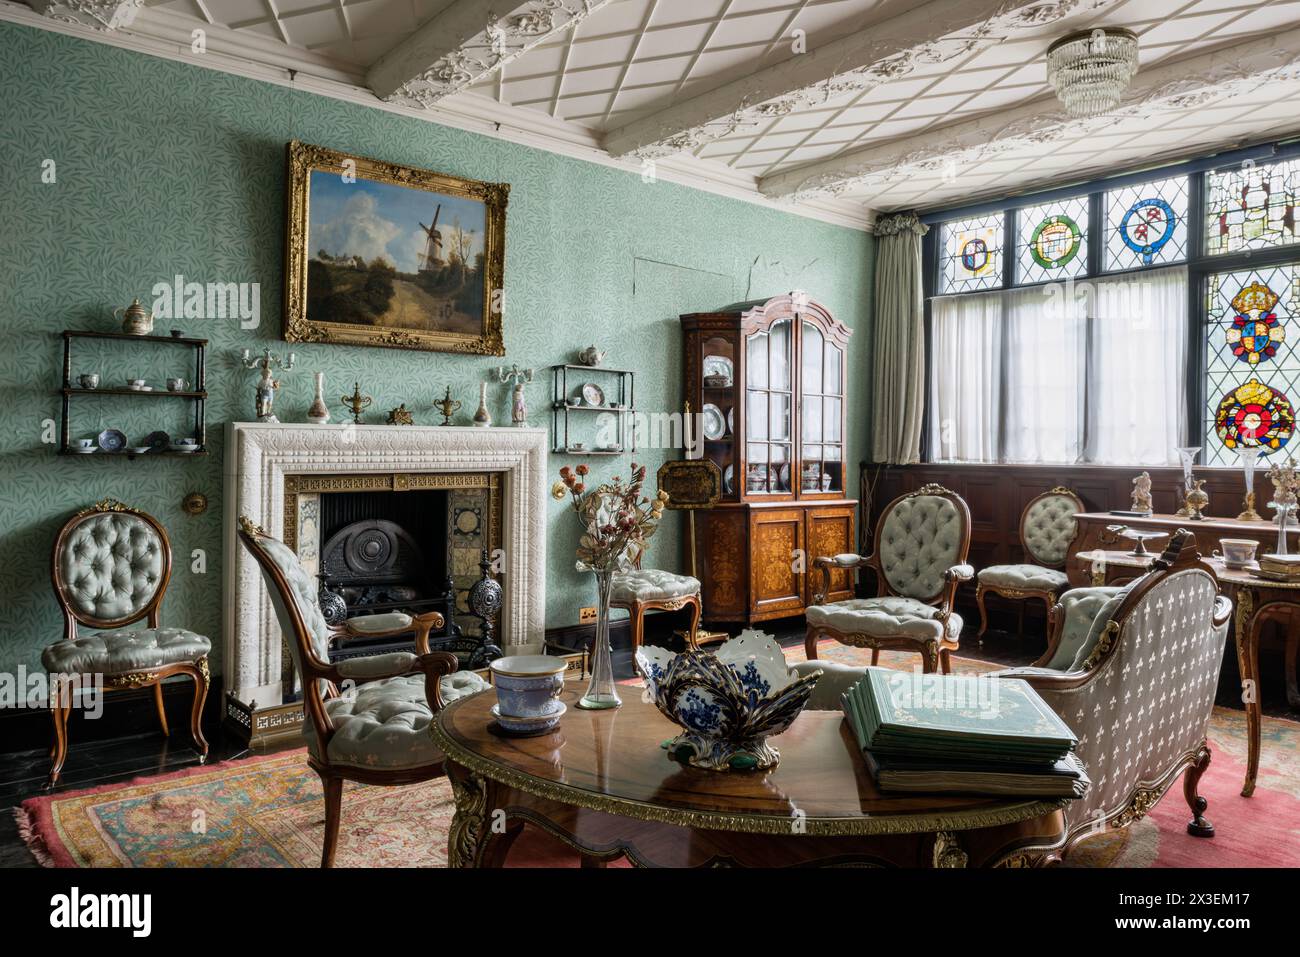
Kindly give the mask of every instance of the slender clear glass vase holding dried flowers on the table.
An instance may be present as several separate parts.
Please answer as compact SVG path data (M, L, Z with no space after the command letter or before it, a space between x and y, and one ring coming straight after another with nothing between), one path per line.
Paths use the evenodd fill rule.
M659 527L668 493L650 498L642 493L646 467L632 463L632 477L614 476L603 485L588 489L585 464L560 469L560 481L551 486L558 501L568 498L582 533L577 542L577 570L595 575L595 640L592 644L592 681L577 702L578 707L619 707L623 700L614 684L610 651L610 593L614 576L641 560L646 544Z

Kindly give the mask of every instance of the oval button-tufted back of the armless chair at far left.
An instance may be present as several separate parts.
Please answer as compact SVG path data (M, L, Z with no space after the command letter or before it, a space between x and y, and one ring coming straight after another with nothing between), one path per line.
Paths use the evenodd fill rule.
M172 546L153 516L105 499L64 523L51 568L65 637L75 638L78 624L117 628L148 618L152 628L172 577Z

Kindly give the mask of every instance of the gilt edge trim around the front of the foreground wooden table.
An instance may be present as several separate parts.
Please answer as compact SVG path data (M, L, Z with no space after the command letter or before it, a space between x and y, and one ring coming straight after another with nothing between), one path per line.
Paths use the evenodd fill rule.
M488 694L490 690L480 692ZM647 820L658 824L676 824L679 827L694 827L705 831L736 831L741 833L790 835L789 815L777 817L772 814L736 814L723 811L684 810L680 807L666 807L662 805L633 801L612 794L597 794L582 788L575 788L556 781L549 781L526 774L514 767L507 767L498 762L476 754L458 742L442 727L447 714L454 711L462 702L476 696L468 696L451 702L438 713L429 724L429 732L434 744L442 750L451 763L459 765L468 771L489 778L498 784L515 788L526 794L547 801L584 807L593 811L621 815L636 820ZM667 757L664 758L668 759ZM723 772L719 772L723 774ZM1017 824L1023 820L1032 820L1062 810L1070 798L1052 798L1044 801L1020 801L997 807L966 811L957 814L906 814L888 817L862 817L862 818L803 818L800 833L810 837L838 837L838 836L867 836L867 835L901 835L901 833L930 833L935 831L975 831L985 827L998 827L1002 824Z

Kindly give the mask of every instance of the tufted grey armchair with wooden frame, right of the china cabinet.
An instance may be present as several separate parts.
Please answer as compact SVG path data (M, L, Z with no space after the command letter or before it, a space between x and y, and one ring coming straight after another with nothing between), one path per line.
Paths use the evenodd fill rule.
M966 564L971 514L956 492L926 485L885 506L876 524L876 551L862 555L823 555L822 589L807 610L805 650L816 659L816 642L831 637L845 645L916 651L926 672L952 668L962 619L953 611L957 586L975 570ZM836 568L871 568L876 573L875 598L852 598L823 605Z

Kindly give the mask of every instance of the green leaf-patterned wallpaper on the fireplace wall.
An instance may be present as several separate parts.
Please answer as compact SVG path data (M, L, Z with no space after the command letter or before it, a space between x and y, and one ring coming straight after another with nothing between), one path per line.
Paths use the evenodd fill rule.
M0 23L0 571L5 629L0 670L39 664L60 635L49 586L53 536L70 511L105 495L155 514L177 554L164 624L217 638L221 627L222 424L252 417L254 373L243 347L278 347L283 241L285 143L302 139L352 153L511 183L506 242L506 364L538 371L528 390L533 423L549 423L545 367L597 342L607 363L637 371L638 404L677 407L681 312L805 289L857 329L850 389L849 462L866 449L864 410L871 238L862 231L676 186L213 70L99 43ZM55 182L43 182L53 161ZM65 328L114 328L110 311L148 302L156 282L260 283L261 322L164 321L211 343L204 459L135 460L56 456L42 423L57 419ZM374 397L368 421L406 402L416 421L438 421L430 403L446 385L472 413L477 384L502 360L436 352L298 346L277 412L302 421L312 376L328 397L360 380ZM104 378L157 376L139 350L88 358ZM136 372L139 369L139 372ZM508 421L508 389L489 389L493 416ZM82 399L75 436L120 428L134 443L179 423L168 402ZM334 403L333 413L342 408ZM75 415L75 411L74 411ZM644 459L651 473L666 452ZM572 456L552 456L552 471ZM593 462L597 475L614 469ZM625 472L625 460L621 462ZM854 473L857 469L853 469ZM188 492L211 507L181 511ZM549 625L577 620L594 588L573 571L572 516L552 503ZM679 566L681 518L670 515L654 560ZM195 571L191 554L205 551ZM220 645L220 640L217 641ZM220 671L220 661L216 668Z

